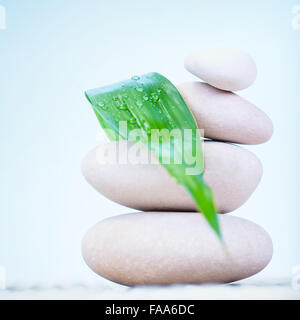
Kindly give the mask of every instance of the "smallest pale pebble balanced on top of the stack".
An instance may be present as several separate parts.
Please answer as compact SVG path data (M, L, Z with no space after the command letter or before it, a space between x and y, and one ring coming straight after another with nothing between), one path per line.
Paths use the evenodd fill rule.
M195 52L185 59L185 68L211 86L226 91L248 88L257 74L253 59L233 49Z

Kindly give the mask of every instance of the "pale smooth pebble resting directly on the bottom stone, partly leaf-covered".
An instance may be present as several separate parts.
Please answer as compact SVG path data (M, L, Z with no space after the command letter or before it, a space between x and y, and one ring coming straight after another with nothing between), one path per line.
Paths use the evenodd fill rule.
M82 163L87 181L105 197L130 208L196 211L188 192L158 161L155 164L132 161L132 145L128 141L111 142L89 152ZM123 157L128 148L131 149L131 163L125 163ZM137 158L148 157L146 148L137 145L135 148ZM118 155L115 150L119 150ZM260 161L253 153L229 143L205 141L203 150L204 180L212 188L218 212L237 209L247 201L261 179ZM116 156L124 164L117 163Z

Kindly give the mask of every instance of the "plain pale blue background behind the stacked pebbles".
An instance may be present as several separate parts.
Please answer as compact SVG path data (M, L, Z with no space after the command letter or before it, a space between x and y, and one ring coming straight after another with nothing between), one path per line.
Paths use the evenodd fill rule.
M83 91L158 71L172 81L191 51L233 47L257 62L241 95L273 119L272 140L251 147L264 177L234 214L261 224L274 257L257 277L291 276L300 264L300 29L296 1L0 0L0 264L8 285L103 283L80 244L104 217L133 210L94 191L80 173L99 125Z

